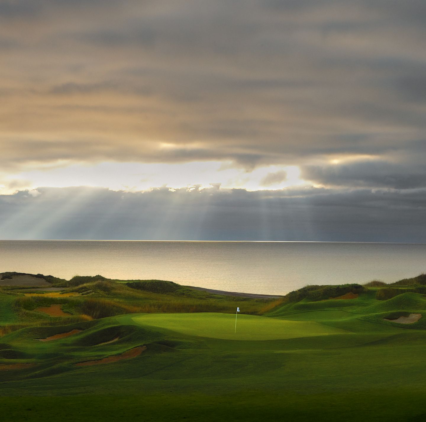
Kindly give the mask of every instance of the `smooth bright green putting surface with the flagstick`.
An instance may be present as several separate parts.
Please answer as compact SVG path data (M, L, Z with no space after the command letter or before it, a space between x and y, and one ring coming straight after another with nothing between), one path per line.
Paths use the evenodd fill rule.
M253 315L238 315L236 333L235 314L145 314L133 316L132 320L148 327L225 340L279 340L347 333L317 322L285 321Z

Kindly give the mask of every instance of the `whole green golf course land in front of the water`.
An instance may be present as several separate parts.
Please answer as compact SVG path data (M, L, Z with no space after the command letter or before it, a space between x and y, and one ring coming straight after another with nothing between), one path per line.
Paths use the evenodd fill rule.
M0 290L0 328L14 327L0 336L2 420L426 420L421 293L379 300L388 287L374 283L331 299L352 287L314 286L267 301L156 280L53 283L78 296ZM43 315L40 304L70 316ZM184 312L164 312L172 304ZM422 318L384 319L410 313ZM93 360L112 363L77 365Z

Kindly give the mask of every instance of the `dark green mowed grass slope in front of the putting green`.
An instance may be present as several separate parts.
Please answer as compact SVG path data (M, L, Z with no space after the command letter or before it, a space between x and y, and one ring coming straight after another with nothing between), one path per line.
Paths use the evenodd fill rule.
M424 331L399 329L374 339L363 333L233 341L196 340L140 326L139 334L121 344L93 345L116 335L97 332L129 327L122 318L83 326L85 331L56 344L36 343L32 337L39 332L29 330L6 336L21 349L33 341L31 354L50 361L33 376L22 371L22 381L9 371L8 381L0 383L2 411L10 420L40 421L57 420L58 412L66 421L110 421L117 413L151 421L282 420L283 414L294 421L401 421L426 412ZM136 344L146 344L147 350L128 361L72 365Z

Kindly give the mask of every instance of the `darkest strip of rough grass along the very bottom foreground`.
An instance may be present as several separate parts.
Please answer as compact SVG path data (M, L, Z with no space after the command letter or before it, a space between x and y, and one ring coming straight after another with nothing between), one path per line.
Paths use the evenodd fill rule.
M44 422L55 420L60 410L60 420L65 422L106 422L121 420L158 421L386 421L421 422L426 417L424 396L410 389L392 388L378 392L374 388L362 392L333 394L318 392L306 395L288 391L283 396L276 391L265 394L250 390L244 395L235 393L211 395L193 392L190 394L138 393L120 395L85 395L75 397L55 397L52 406L50 397L0 398L0 408L9 420L21 421L31 418ZM331 405L326 405L330 403ZM84 409L82 411L82 409ZM161 410L160 410L161 409ZM407 409L413 409L407 412ZM259 419L259 415L261 416ZM100 419L102 418L102 419ZM339 418L339 419L338 419Z

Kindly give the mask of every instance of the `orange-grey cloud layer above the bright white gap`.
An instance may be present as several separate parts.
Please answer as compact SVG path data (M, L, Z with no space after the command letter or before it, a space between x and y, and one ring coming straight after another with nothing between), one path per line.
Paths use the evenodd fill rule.
M0 20L11 168L214 159L423 186L423 1L17 0Z

